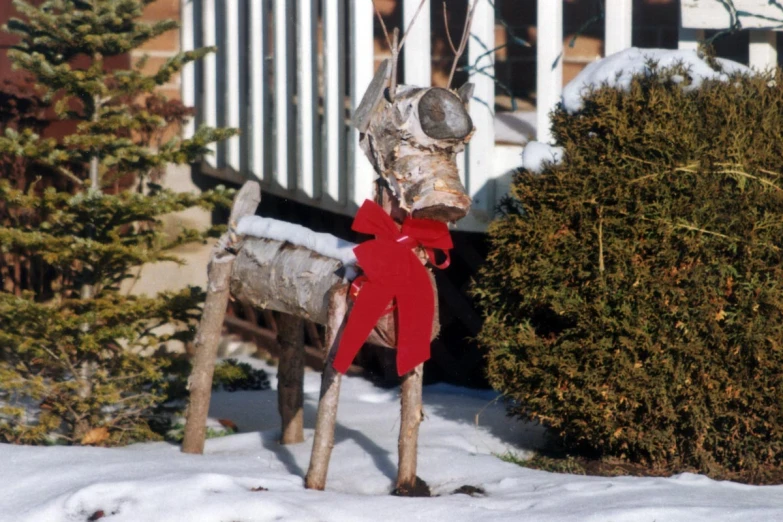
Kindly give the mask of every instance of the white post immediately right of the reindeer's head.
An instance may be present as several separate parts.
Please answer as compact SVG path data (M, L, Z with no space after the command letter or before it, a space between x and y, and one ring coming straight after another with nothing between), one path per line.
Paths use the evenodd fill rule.
M469 107L476 132L466 152L467 175L464 180L465 188L473 198L471 212L476 214L485 213L495 205L493 155L487 154L495 147L495 53L488 52L494 47L495 10L489 0L479 0L468 44L468 63L481 69L483 74L470 77L476 86Z

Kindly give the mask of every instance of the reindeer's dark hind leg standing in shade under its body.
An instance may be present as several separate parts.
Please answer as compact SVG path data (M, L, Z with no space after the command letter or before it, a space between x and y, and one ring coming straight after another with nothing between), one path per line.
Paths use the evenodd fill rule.
M304 442L304 319L282 314L277 320L280 364L277 371L277 407L281 444Z

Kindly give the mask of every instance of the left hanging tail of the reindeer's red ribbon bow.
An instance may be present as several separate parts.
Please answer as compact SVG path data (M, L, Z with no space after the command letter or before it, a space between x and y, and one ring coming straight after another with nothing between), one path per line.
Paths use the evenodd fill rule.
M394 294L390 289L373 284L372 281L366 281L362 285L362 291L356 297L348 315L348 323L345 325L337 355L332 363L338 372L348 371L356 354L359 353L364 341L369 337L393 297Z

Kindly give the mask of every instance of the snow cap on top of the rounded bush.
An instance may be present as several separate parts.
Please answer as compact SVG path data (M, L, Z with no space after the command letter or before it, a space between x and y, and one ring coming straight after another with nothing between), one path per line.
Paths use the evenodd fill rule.
M563 108L570 113L579 111L583 107L582 96L604 85L628 90L633 76L650 74L650 61L657 62L659 69L682 64L689 70L691 77L691 84L685 87L686 90L698 89L704 80L727 81L732 74L751 72L740 63L724 58L716 60L723 68L722 72L713 70L696 51L632 47L585 67L563 89ZM684 81L684 78L681 77L680 81Z

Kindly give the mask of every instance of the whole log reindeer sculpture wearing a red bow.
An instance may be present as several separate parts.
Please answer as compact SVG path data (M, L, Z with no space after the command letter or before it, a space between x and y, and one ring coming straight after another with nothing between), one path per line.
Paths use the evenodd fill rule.
M460 53L468 31L466 23ZM395 58L396 41L395 31ZM302 320L326 325L328 354L305 478L308 488L326 485L340 372L348 368L365 341L398 350L402 413L396 491L415 493L423 362L439 330L437 289L425 265L448 264L446 257L438 265L434 251L451 248L447 223L461 219L470 208L456 155L474 130L466 110L472 86L466 84L456 92L398 86L393 81L394 69L393 61L381 65L354 115L361 147L379 174L376 201L362 205L354 229L376 239L350 245L348 250L354 253L345 256L340 252L346 246L334 245L339 241L332 236L274 220L254 218L262 221L265 232L255 234L262 237L243 235L248 221L241 218L255 212L260 189L257 183L248 182L237 195L230 230L216 245L210 261L207 301L189 380L184 452L203 452L217 341L231 294L256 308L284 313L278 321L278 404L285 443L303 440ZM306 240L293 241L294 236ZM348 267L353 264L360 269L358 277L347 274L346 268L355 270Z

